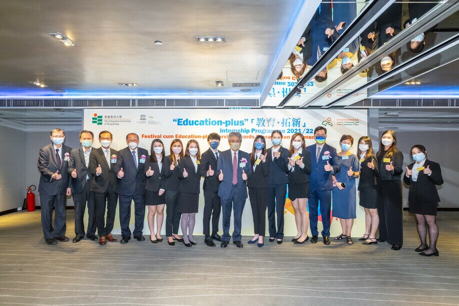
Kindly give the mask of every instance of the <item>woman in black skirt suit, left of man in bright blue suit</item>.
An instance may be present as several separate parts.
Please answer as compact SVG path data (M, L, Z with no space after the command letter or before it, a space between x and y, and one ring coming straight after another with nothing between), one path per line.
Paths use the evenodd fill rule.
M309 177L311 173L310 153L306 150L304 136L294 133L290 140L290 157L288 158L288 198L295 214L296 230L294 243L304 243L309 239L309 215L307 198L309 198Z

